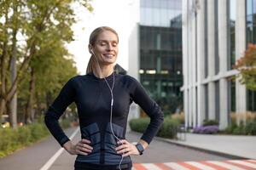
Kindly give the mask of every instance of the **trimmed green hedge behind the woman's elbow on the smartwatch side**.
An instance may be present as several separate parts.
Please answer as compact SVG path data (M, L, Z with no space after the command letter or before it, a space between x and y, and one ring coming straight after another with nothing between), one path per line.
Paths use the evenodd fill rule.
M132 119L129 122L129 124L130 124L131 130L139 133L144 133L146 128L148 127L149 121L150 120L148 117L138 118L138 119ZM177 120L172 120L170 117L166 117L156 136L175 139L177 137L178 126L179 126L179 122Z

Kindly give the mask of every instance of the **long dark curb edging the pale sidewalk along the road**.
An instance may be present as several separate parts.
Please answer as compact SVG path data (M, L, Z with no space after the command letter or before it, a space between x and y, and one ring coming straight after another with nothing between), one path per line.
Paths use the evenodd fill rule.
M130 133L142 134L142 133L137 133L135 131L130 131ZM177 142L173 139L164 139L164 138L161 138L161 137L158 137L158 136L155 136L154 139L157 139L157 140L160 140L162 142L169 143L169 144L176 144L178 146L182 146L182 147L189 148L189 149L192 149L192 150L203 151L203 152L206 152L206 153L209 153L209 154L212 154L212 155L216 155L216 156L223 156L223 157L226 157L226 158L229 158L229 159L239 159L239 160L252 159L252 158L248 158L248 157L244 157L244 156L236 156L236 155L232 155L232 154L227 154L227 153L216 151L216 150L209 150L209 149L205 149L205 148L200 148L200 147L194 146L194 145L181 144L181 143L179 143L179 142Z

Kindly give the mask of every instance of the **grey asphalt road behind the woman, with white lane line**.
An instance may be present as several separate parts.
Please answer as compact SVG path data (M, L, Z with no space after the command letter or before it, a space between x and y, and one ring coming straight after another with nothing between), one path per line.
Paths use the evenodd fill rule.
M75 128L69 128L68 136L74 132ZM74 136L73 142L77 142L80 133ZM126 139L130 142L137 142L140 138L138 133L127 133ZM22 150L16 151L13 155L0 159L0 169L2 170L40 170L49 159L60 151L60 146L53 137L44 139L37 144L33 144ZM162 163L171 161L224 161L228 158L214 156L198 150L191 150L175 144L169 144L160 140L153 140L145 150L143 156L131 156L134 163ZM71 170L76 156L61 152L57 156L50 170ZM41 169L43 170L43 169ZM44 169L46 170L46 168Z

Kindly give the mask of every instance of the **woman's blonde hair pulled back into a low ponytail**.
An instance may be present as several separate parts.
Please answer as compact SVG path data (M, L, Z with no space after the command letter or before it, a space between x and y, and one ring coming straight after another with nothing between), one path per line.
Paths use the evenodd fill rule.
M118 41L119 41L119 35L118 35L118 33L116 31L113 30L113 28L110 28L108 26L101 26L101 27L96 28L94 31L92 31L90 33L89 43L90 43L91 46L95 45L98 36L103 31L111 31L111 32L113 32L116 35L116 37L118 38ZM100 69L100 68L98 68L96 66L96 59L92 55L93 54L90 55L90 59L89 59L89 62L88 62L88 65L87 65L87 69L86 69L86 74L90 73L90 72L93 72L93 71L97 71L98 69Z

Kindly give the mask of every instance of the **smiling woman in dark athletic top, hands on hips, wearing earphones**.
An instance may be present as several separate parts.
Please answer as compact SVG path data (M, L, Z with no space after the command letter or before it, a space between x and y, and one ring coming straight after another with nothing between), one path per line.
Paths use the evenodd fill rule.
M45 114L50 133L71 155L78 155L75 170L131 169L131 155L142 155L163 122L163 113L133 77L113 71L119 48L116 31L107 26L90 34L90 61L86 75L72 77ZM134 101L151 121L139 142L125 139L127 117ZM81 140L73 144L58 119L75 102L79 113Z

